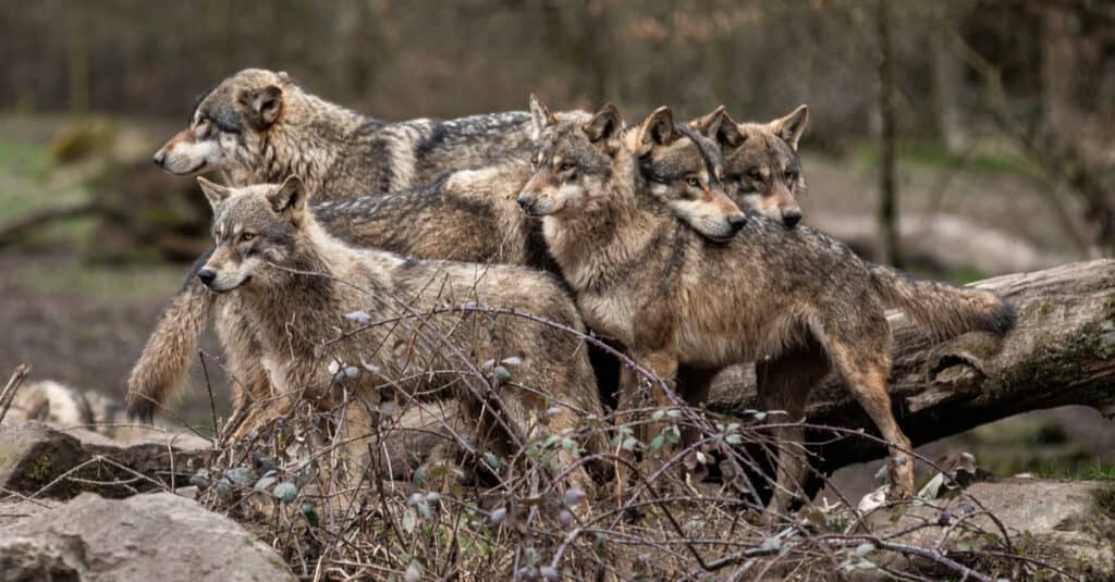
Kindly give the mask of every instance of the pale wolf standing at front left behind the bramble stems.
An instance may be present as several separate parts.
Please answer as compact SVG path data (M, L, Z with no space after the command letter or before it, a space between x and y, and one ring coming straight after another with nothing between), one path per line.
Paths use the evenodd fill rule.
M339 384L363 396L386 385L419 398L460 397L474 404L474 420L482 423L477 434L488 438L488 447L510 454L506 434L491 414L479 413L489 402L453 389L474 378L452 370L517 358L513 378L495 386L520 427L536 429L532 419L549 418L552 433L572 436L579 418L602 418L580 338L514 314L463 308L514 310L581 329L576 307L556 277L348 246L314 220L307 207L310 194L295 176L282 185L245 188L200 182L214 208L216 249L197 277L216 293L240 295L243 323L258 332L261 352L255 356L281 400L304 398L332 409ZM347 321L346 314L357 311L380 323ZM330 362L377 371L339 381ZM602 452L601 434L590 435L585 448ZM564 471L575 457L561 449L558 460ZM571 479L591 485L583 469Z

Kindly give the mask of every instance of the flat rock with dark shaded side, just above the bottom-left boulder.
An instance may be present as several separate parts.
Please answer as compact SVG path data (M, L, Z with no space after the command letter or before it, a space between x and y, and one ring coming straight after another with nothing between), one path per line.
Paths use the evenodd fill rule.
M172 467L178 484L186 485L209 455L207 447L193 436L151 433L143 443L123 445L84 429L62 433L40 423L4 423L0 487L61 498L83 491L124 497L168 484ZM62 475L67 478L58 479Z

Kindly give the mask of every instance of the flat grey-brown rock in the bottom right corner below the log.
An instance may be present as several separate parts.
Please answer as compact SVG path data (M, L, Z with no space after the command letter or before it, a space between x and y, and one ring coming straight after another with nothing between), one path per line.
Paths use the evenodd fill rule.
M966 491L979 503L973 504L963 495L937 502L951 513L953 527L957 518L982 506L1002 523L1016 549L1026 549L1028 557L1046 561L1088 580L1115 579L1115 483L1007 478L976 483ZM923 505L910 507L894 523L891 512L885 511L876 512L869 520L874 532L884 537L925 521L938 522L940 515L941 510ZM968 523L986 532L999 532L986 515L977 515ZM932 547L944 531L946 527L933 525L890 541ZM943 549L963 550L972 543L980 541L953 528ZM902 564L914 569L927 565L917 561Z

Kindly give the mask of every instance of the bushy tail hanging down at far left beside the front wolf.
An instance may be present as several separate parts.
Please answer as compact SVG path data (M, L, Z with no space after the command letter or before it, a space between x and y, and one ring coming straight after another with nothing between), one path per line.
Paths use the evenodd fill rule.
M151 423L155 409L174 396L185 381L197 351L197 336L215 307L215 293L194 277L207 258L209 253L194 264L185 287L163 311L139 361L132 369L127 396L129 418Z

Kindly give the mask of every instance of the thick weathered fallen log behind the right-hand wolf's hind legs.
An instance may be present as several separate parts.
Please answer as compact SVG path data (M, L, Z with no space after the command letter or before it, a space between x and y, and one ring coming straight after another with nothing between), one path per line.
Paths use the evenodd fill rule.
M901 313L894 329L890 392L899 424L921 445L1020 413L1066 405L1115 416L1115 260L1068 263L973 283L1010 300L1018 328L1005 338L969 333L933 341ZM757 408L750 369L718 378L709 409L740 416ZM832 377L808 406L811 424L878 434L863 409ZM832 440L832 435L812 435ZM884 456L865 438L816 445L825 473Z

